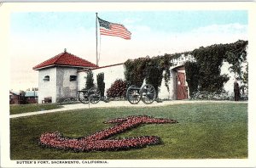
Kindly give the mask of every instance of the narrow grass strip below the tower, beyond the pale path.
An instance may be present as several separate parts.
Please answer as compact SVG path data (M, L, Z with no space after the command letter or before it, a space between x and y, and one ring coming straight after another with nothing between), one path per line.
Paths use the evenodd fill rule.
M21 113L59 108L61 108L61 105L59 104L10 104L9 113L10 115L17 115Z

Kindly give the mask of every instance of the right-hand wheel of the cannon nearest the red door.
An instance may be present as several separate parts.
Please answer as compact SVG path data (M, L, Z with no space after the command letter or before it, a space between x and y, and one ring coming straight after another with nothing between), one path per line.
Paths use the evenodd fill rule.
M140 93L144 104L152 104L154 102L156 92L152 85L144 85Z

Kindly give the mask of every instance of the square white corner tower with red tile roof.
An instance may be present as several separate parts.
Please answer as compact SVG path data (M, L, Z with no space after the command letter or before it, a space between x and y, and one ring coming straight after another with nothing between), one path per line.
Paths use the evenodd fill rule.
M78 70L96 68L96 64L81 59L72 53L63 53L34 66L38 70L38 104L44 99L56 103L61 98L76 98L78 92Z

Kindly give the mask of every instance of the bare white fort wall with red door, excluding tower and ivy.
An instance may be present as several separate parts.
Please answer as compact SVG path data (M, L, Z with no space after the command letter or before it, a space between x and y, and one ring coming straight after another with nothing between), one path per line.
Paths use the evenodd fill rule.
M235 45L234 45L235 44ZM241 45L242 44L242 45ZM241 74L246 74L247 72L247 42L246 41L237 41L235 43L229 43L229 44L222 44L222 46L230 46L232 51L240 51L237 53L236 59L240 59L237 61L237 64L239 64L239 69L241 70ZM237 46L236 46L237 45ZM220 45L212 45L205 48L218 48ZM238 50L238 49L239 50ZM225 52L230 53L228 50L225 50ZM244 54L246 53L246 54ZM234 53L233 53L234 54ZM234 54L235 55L235 54ZM184 53L175 53L171 54L170 59L170 80L165 81L164 78L162 79L161 86L159 88L159 98L160 99L168 99L168 100L183 100L189 98L189 85L187 82L187 73L185 70L185 63L186 62L197 62L195 59L195 55L193 55L193 52L184 52ZM241 59L243 58L243 59ZM235 63L236 64L236 63ZM94 81L96 81L96 76L100 73L104 73L104 82L105 82L105 93L107 92L107 89L111 87L113 82L117 79L125 80L125 65L124 64L112 64L104 67L96 67L91 69ZM222 64L220 64L219 67L213 67L219 68L220 70L220 76L226 75L228 76L229 80L224 82L223 86L223 92L224 95L220 95L220 97L225 96L225 98L232 98L234 94L234 81L236 81L236 78L238 75L232 70L232 67L234 64L229 63L227 59L222 60ZM163 73L166 73L165 71ZM79 89L82 89L84 87L85 78L84 76L87 76L87 70L79 70L78 71L78 82L79 82ZM247 96L247 83L244 81L239 81L239 86L244 87L245 91L243 92L244 96ZM167 89L167 87L169 89ZM141 86L137 86L141 87ZM106 95L106 94L105 94ZM219 98L220 98L219 97ZM220 98L221 99L221 98Z

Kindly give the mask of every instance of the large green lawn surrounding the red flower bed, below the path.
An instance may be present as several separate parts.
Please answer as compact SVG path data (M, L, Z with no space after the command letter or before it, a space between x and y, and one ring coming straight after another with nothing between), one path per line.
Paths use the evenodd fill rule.
M128 115L171 118L179 123L143 125L112 137L161 138L160 145L147 148L74 153L38 145L38 137L44 132L84 137L113 126L103 121ZM247 154L247 104L82 109L10 119L11 160L243 159Z

